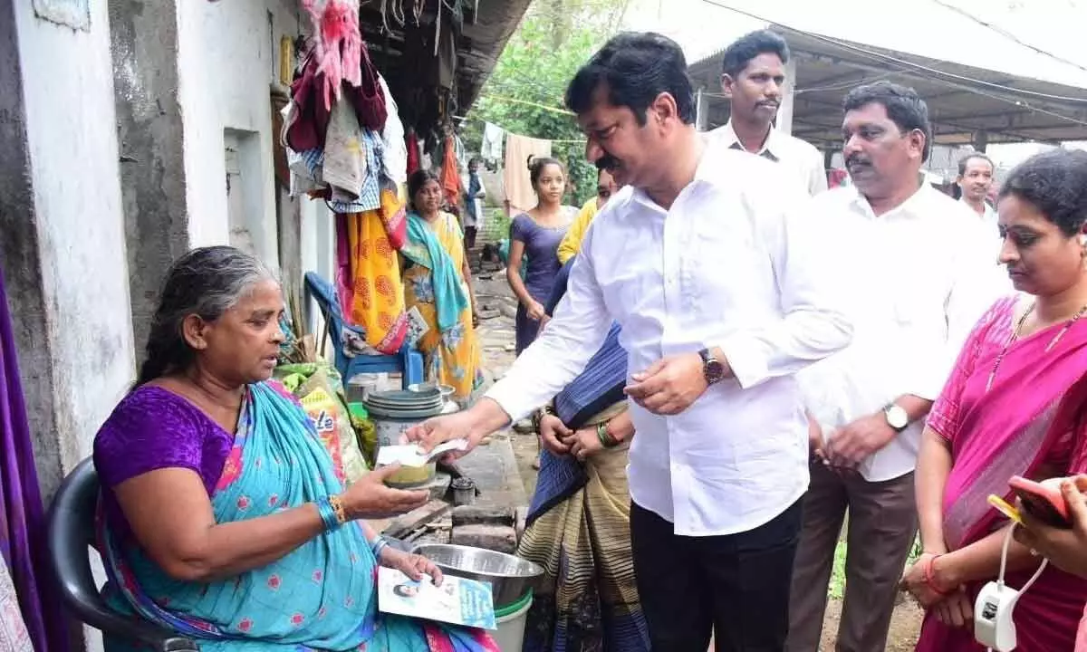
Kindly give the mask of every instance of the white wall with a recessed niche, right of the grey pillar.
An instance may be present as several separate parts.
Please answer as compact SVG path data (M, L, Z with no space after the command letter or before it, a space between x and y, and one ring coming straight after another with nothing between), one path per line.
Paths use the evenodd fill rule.
M270 84L278 78L279 39L299 32L298 11L286 0L177 2L179 97L185 129L189 235L195 247L229 241L225 129L259 141L258 197L246 190L258 253L278 264ZM268 25L272 12L272 26ZM305 13L301 13L303 28Z

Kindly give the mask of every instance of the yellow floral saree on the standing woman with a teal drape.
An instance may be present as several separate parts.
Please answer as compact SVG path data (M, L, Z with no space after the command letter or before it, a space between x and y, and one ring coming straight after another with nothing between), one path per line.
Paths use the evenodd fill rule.
M449 254L453 268L458 271L458 276L464 284L465 296L468 296L467 281L460 272L464 268L464 240L457 217L449 213L440 213L428 227L434 229L441 248ZM421 244L409 241L405 250L411 247ZM424 260L422 255L410 256L409 260L411 259ZM479 340L472 325L471 303L461 311L457 326L442 333L438 328L438 311L430 268L411 263L403 272L403 279L405 305L409 310L413 306L418 309L428 327L426 334L415 343L426 358L427 380L449 385L454 390L454 399L462 403L468 401L472 393L483 385Z

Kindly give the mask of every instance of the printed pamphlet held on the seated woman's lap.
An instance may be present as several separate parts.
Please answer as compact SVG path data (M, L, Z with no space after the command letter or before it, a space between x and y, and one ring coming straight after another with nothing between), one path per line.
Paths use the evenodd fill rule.
M443 576L436 587L427 575L416 581L396 568L377 570L377 609L388 614L465 627L498 629L490 585Z

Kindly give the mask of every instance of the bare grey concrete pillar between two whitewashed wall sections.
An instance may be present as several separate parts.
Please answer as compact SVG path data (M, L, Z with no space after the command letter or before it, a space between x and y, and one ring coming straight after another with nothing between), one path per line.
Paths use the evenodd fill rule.
M132 323L142 360L160 286L189 249L175 0L109 0Z

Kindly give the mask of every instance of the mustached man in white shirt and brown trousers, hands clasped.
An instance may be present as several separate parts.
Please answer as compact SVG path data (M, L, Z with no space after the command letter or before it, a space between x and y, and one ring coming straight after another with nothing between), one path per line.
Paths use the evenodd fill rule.
M932 401L1002 286L982 222L925 183L928 110L877 82L846 96L842 154L853 186L815 197L809 218L845 261L852 343L798 374L812 421L789 652L816 652L849 511L839 652L883 652L916 532L913 468Z

